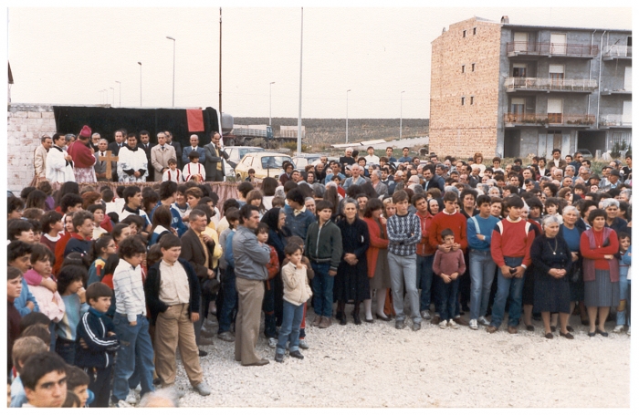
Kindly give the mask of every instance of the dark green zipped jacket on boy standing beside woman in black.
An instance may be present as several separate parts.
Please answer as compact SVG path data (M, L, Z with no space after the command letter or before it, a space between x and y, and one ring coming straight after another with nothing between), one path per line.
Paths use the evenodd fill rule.
M341 261L341 231L335 223L324 223L321 229L319 221L310 223L304 247L311 262L330 263L330 269L337 271Z

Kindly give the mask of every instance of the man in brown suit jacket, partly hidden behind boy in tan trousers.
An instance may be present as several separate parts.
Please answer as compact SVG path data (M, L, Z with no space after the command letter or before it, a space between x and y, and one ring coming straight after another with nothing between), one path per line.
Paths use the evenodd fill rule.
M195 275L199 278L200 284L204 283L206 279L215 278L215 272L212 269L215 242L209 235L204 233L206 224L206 213L199 209L194 209L189 213L190 229L186 231L181 238L182 252L180 253L180 257L194 267ZM200 316L204 316L205 306L208 306L208 304L205 303L204 298L202 298L200 302ZM194 323L195 343L197 343L198 346L212 345L213 341L211 339L200 337L203 322L204 318L200 318Z

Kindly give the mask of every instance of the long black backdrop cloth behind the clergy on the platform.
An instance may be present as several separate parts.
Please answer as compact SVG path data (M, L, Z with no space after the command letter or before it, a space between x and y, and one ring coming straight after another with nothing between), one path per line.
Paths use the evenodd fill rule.
M116 130L139 133L147 130L151 142L157 142L157 133L169 130L173 140L183 146L189 144L191 134L200 137L200 146L211 141L210 132L219 131L217 111L211 107L202 110L204 132L188 130L186 109L135 109L105 107L65 107L54 106L56 129L62 134L79 134L82 126L88 125L93 132L99 132L102 138L113 141Z

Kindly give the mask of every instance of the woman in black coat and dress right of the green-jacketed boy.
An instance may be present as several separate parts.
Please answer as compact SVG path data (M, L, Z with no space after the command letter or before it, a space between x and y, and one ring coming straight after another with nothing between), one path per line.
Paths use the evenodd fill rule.
M370 239L368 225L357 217L357 202L347 199L344 203L343 218L337 223L341 231L342 257L335 275L333 298L337 300L337 315L340 325L346 324L344 306L347 301L355 302L352 316L360 325L360 304L371 298L368 281L366 250Z

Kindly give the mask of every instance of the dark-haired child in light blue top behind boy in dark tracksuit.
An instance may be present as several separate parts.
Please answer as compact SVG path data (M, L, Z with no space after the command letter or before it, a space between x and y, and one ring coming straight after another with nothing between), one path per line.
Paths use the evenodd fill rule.
M89 310L82 282L87 278L87 270L78 265L62 267L58 275L58 293L62 296L65 314L56 325L56 353L73 365L76 357L76 328L80 316Z

